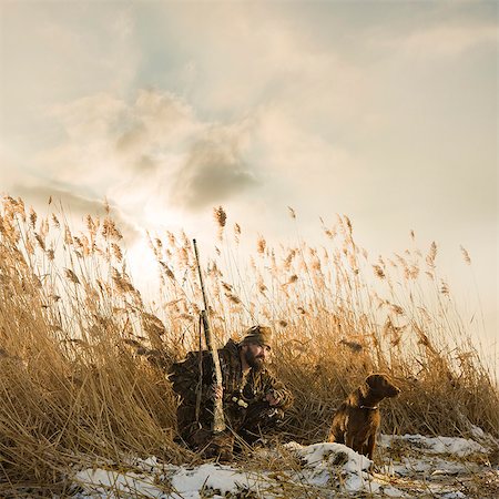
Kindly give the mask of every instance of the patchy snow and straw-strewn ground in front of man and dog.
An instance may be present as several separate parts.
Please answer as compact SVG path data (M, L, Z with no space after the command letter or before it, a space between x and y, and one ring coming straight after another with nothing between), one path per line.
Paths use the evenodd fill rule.
M499 470L487 465L489 450L473 440L420 435L381 436L380 467L340 444L259 449L254 459L231 465L162 464L152 457L75 472L79 499L90 498L299 498L299 497L496 497ZM262 462L273 462L265 467ZM255 465L258 461L259 465ZM276 470L276 462L279 462ZM478 475L477 475L478 473ZM481 473L481 475L480 475ZM489 487L473 495L469 480ZM473 482L475 483L475 482ZM496 488L495 488L496 487Z

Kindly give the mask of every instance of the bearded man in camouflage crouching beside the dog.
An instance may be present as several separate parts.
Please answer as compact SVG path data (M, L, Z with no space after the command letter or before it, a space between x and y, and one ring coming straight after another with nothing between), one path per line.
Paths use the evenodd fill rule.
M205 457L231 460L234 441L252 445L275 428L284 409L293 401L291 393L266 368L271 356L272 329L253 326L240 343L230 339L218 349L222 388L214 384L212 356L191 352L169 375L180 396L180 437ZM200 369L201 367L201 369ZM222 398L227 429L212 431L214 400Z

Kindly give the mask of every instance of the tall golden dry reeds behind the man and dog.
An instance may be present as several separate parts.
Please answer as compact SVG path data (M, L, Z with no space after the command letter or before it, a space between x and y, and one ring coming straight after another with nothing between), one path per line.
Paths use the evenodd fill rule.
M19 482L63 492L79 461L195 459L173 442L164 376L198 342L191 240L150 237L160 291L147 304L109 213L73 234L63 213L49 212L11 197L0 210L0 493ZM322 247L298 238L273 248L259 236L244 256L241 226L227 235L223 208L215 216L220 247L205 267L212 325L220 343L256 322L274 327L274 369L296 400L289 438L323 439L334 408L374 370L403 388L385 404L384 431L478 426L499 436L495 373L438 276L435 244L373 262L338 217L323 227Z

